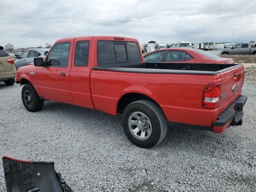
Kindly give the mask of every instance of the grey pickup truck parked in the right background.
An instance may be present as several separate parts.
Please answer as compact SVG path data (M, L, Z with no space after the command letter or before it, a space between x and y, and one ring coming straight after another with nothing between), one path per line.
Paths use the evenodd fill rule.
M222 55L255 55L256 44L255 43L238 43L231 48L224 48L220 50Z

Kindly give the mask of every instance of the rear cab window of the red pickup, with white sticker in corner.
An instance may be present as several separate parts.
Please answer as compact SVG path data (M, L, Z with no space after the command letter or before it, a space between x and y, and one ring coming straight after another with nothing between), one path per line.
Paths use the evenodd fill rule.
M99 40L97 43L98 66L141 62L142 58L137 42Z

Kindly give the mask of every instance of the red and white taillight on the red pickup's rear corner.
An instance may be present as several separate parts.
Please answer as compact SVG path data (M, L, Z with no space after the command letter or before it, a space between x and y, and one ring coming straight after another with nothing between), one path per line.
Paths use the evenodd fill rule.
M203 108L215 109L219 106L220 84L209 85L204 89Z

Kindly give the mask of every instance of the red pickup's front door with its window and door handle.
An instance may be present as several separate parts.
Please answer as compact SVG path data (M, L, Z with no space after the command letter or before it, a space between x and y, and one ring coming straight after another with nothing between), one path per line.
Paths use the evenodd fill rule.
M70 90L70 68L73 42L56 43L36 71L38 86L45 98L73 102Z

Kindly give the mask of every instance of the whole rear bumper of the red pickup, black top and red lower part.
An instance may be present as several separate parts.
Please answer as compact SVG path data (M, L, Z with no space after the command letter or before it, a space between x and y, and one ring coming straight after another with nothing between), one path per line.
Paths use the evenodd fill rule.
M219 114L217 120L212 122L213 132L221 133L230 125L242 125L243 108L246 101L247 96L241 95L226 110Z

